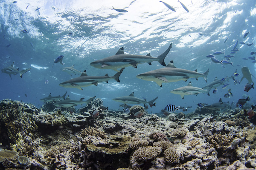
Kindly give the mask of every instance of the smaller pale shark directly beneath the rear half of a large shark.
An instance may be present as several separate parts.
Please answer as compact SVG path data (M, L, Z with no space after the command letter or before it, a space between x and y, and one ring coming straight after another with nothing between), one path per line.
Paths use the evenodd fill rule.
M170 91L173 94L180 94L181 98L184 99L185 95L198 95L200 93L207 93L209 96L209 91L211 90L212 87L209 87L207 90L204 90L202 88L197 88L192 86L191 82L189 82L188 85L180 87L180 88L176 88L172 91Z

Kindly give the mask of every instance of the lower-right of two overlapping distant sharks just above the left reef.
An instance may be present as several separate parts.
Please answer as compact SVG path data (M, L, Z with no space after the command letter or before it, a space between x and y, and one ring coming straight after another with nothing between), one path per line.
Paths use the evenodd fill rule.
M77 105L83 105L84 103L86 103L86 105L88 105L90 103L90 101L92 101L95 97L96 96L90 97L90 99L83 101L84 98L81 98L80 100L71 100L70 96L68 95L65 100L61 100L60 102L53 103L53 105L60 107L60 108L70 108L70 107L77 106Z

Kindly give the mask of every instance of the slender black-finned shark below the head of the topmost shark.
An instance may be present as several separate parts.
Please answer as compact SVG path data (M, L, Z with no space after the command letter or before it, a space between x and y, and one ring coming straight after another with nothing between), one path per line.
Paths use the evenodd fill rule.
M105 76L87 76L86 70L85 70L81 74L80 77L76 77L76 78L67 80L66 82L62 82L59 85L64 88L78 88L80 90L83 90L83 89L81 89L81 87L87 87L90 85L98 85L99 82L108 82L110 79L114 79L117 82L120 82L119 76L121 75L123 70L124 70L124 68L122 68L114 76L108 76L108 74L106 74Z

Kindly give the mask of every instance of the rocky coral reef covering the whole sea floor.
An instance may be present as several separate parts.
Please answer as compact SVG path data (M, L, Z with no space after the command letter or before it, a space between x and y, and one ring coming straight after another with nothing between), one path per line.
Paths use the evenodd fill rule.
M128 114L100 110L102 105L94 99L78 111L54 107L44 112L19 101L0 101L0 169L256 168L256 126L243 111L201 109L160 118L139 105ZM92 116L94 110L99 116ZM137 111L143 116L134 116Z

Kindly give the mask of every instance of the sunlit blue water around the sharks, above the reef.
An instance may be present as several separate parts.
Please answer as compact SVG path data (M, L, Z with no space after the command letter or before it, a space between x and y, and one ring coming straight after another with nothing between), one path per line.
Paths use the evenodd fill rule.
M152 62L152 65L140 64L138 68L125 68L119 77L121 83L110 80L108 84L104 82L98 86L84 87L83 91L58 85L78 76L71 77L63 72L60 63L54 64L52 68L54 59L59 55L64 55L64 67L75 64L77 70L86 70L90 76L112 76L115 71L94 68L90 66L90 62L114 55L122 46L125 54L150 53L152 57L157 57L170 43L172 49L165 59L166 64L173 60L177 68L192 71L198 69L200 73L209 68L208 83L215 77L230 77L236 69L241 74L243 66L247 66L251 74L256 76L255 63L250 59L242 59L252 57L250 52L256 51L256 1L182 0L189 13L178 1L164 2L169 3L176 12L155 0L1 1L0 68L6 68L15 62L15 68L31 68L31 71L23 74L23 78L12 75L10 79L8 74L0 74L0 99L30 102L40 107L43 102L39 99L49 93L52 96L62 96L67 91L71 99L96 96L104 101L105 106L118 109L122 103L111 99L134 92L134 96L141 99L145 97L148 101L158 96L156 107L149 108L149 113L159 112L169 104L185 107L192 105L192 111L199 102L218 102L221 97L223 102L236 103L243 94L249 95L253 102L256 92L254 89L248 93L244 91L246 79L238 85L234 85L233 81L229 82L228 88L233 93L230 98L224 98L228 88L222 90L220 86L217 94L212 94L212 89L210 96L187 95L181 99L180 95L171 94L170 91L187 85L189 81L200 88L207 83L203 78L198 81L189 79L187 82L163 83L160 88L155 82L136 78L137 74L163 68L158 62ZM128 12L114 11L112 6ZM40 9L35 11L37 8ZM22 29L29 30L29 33L24 34L20 31ZM243 36L248 31L250 34L244 39ZM227 42L223 43L226 37ZM211 59L206 58L215 51L229 54L237 39L253 45L238 45L239 51L230 60L234 66L225 65L223 68L221 64L212 63ZM224 54L215 57L222 60ZM49 83L45 84L47 79ZM253 81L256 82L256 79L253 78Z

